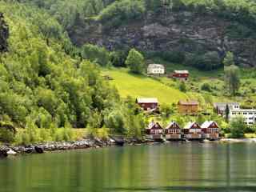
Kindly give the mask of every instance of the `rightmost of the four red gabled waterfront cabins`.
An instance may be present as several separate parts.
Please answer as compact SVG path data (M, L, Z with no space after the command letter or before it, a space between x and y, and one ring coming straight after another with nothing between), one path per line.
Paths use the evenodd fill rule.
M219 126L217 122L206 121L201 126L203 138L217 140L219 138Z

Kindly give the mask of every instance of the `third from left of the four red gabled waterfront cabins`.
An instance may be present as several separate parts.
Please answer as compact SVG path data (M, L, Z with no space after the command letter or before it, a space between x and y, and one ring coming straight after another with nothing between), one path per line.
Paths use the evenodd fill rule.
M188 122L183 129L183 134L189 140L201 140L202 129L197 122Z

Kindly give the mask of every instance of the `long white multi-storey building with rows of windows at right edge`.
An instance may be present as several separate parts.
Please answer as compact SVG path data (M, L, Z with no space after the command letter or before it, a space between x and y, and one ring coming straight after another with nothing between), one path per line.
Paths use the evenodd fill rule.
M247 125L253 125L256 123L256 110L251 109L236 109L236 110L230 110L230 120L232 118L242 116L245 119L245 123Z

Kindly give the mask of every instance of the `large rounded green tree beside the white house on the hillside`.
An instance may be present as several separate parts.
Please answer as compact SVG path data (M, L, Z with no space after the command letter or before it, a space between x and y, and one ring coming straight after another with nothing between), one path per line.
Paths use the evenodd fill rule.
M142 74L146 68L143 55L137 50L131 49L126 58L126 66L129 66L132 73Z

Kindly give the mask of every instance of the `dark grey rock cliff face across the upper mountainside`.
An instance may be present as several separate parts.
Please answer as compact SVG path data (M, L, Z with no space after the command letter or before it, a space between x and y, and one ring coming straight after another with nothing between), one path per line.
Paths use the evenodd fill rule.
M112 27L86 22L74 28L70 38L78 46L93 43L109 50L135 47L143 51L180 52L189 60L193 54L218 55L220 61L232 51L241 66L256 66L255 31L238 22L189 11L146 14L143 21Z

